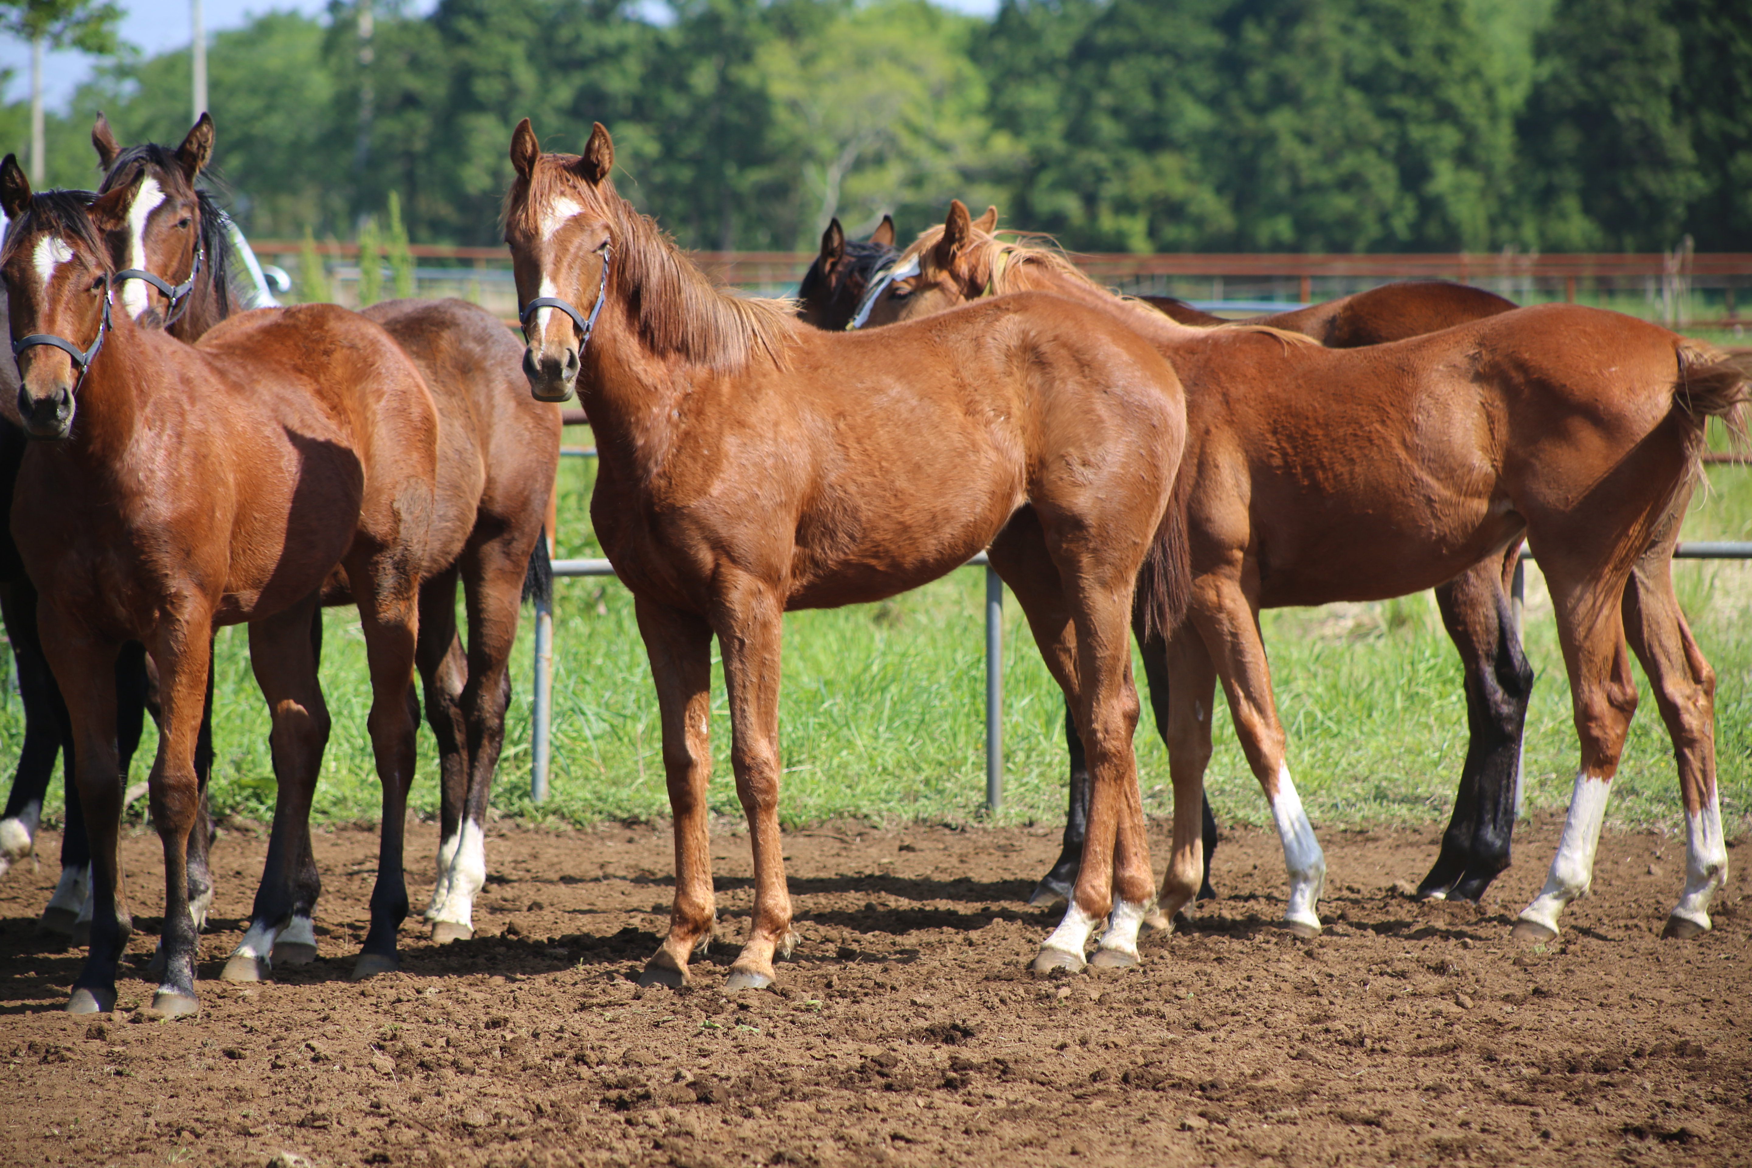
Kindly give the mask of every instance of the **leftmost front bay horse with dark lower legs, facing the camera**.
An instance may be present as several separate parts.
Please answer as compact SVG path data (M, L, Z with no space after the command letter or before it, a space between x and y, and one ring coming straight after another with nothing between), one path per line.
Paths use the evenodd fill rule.
M121 644L147 646L163 709L149 779L165 849L165 963L152 1007L189 1014L198 1009L198 937L187 837L200 802L193 755L212 632L249 623L251 662L273 713L280 799L308 800L328 739L310 627L336 562L357 581L368 725L384 785L366 972L371 960L392 960L406 916L417 567L438 450L431 394L378 326L329 305L233 317L196 347L114 312L116 266L103 235L126 222L121 208L142 180L137 168L126 186L88 205L33 194L14 156L0 163L0 207L12 217L0 277L23 383L19 415L37 440L11 522L42 597L39 627L68 704L93 851L96 909L68 1002L75 1014L116 1002ZM287 844L275 837L270 856ZM291 888L280 897L289 907Z

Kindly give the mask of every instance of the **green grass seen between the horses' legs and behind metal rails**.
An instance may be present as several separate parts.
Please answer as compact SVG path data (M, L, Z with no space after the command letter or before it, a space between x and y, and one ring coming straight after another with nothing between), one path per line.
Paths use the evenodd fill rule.
M568 441L585 441L573 431ZM594 464L561 466L561 555L599 555L589 534ZM1687 538L1752 536L1752 469L1712 468ZM1729 832L1752 813L1752 632L1741 618L1752 564L1682 562L1680 599L1720 674L1717 744ZM785 620L781 756L788 823L830 816L878 821L971 821L983 816L983 573L965 569L894 601ZM1528 718L1528 807L1561 807L1577 765L1570 695L1549 609L1529 592L1528 655L1538 674ZM1265 613L1291 770L1318 823L1430 823L1445 818L1465 756L1459 665L1428 594L1386 604ZM1006 804L1000 821L1063 816L1063 707L1021 622L1006 604ZM315 811L375 820L378 788L364 735L370 693L350 609L328 613L322 683L335 734ZM513 658L515 697L494 804L505 814L592 821L668 811L650 671L632 604L611 580L557 581L552 799L529 802L529 622ZM273 806L268 721L249 672L247 636L224 630L217 650L219 811L266 818ZM1614 792L1621 823L1677 823L1670 746L1647 681ZM12 767L23 716L11 686L0 704L0 767ZM1219 699L1221 700L1221 699ZM1265 804L1225 713L1218 713L1209 788L1223 821L1265 821ZM147 739L133 779L147 772ZM1146 807L1170 811L1167 756L1148 706L1137 737ZM722 674L713 685L713 809L739 816L729 770ZM438 804L434 749L420 734L419 811ZM51 795L51 813L60 806ZM135 806L140 814L142 804Z

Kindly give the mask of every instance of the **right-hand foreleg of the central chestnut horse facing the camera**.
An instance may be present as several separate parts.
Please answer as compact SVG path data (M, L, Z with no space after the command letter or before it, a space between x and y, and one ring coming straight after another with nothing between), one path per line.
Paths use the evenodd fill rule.
M731 706L736 799L748 820L755 860L753 921L724 984L725 993L736 993L771 986L774 958L788 958L794 944L785 846L778 830L778 679L785 606L766 581L725 578L720 569L713 609Z

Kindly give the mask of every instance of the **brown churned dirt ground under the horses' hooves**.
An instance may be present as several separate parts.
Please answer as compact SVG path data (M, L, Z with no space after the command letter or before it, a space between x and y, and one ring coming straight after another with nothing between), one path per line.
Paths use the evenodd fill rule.
M632 984L668 921L668 830L489 841L478 937L403 928L403 972L350 984L375 835L317 835L324 956L282 981L217 977L265 841L215 848L201 1014L156 1021L138 968L114 1016L61 1012L81 953L35 916L60 841L0 884L0 1163L254 1164L1409 1164L1752 1161L1747 849L1715 932L1663 942L1684 846L1608 834L1594 895L1522 947L1556 820L1482 907L1407 898L1435 830L1325 837L1318 940L1274 926L1282 858L1235 832L1221 900L1125 974L1025 974L1055 914L1023 907L1048 830L788 835L801 944L776 993ZM436 830L410 828L410 855ZM1153 841L1158 865L1167 842ZM720 930L752 904L746 837L715 835ZM158 842L126 841L137 911ZM424 895L429 872L410 877ZM140 919L131 953L152 946ZM1011 1159L1014 1157L1014 1159Z

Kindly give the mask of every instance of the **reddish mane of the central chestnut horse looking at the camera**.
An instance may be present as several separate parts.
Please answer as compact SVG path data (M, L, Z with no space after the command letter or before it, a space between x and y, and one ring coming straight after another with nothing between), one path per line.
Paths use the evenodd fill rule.
M538 235L536 207L561 196L596 203L615 242L610 280L646 348L718 373L739 373L757 352L785 368L795 327L792 301L738 296L713 284L650 215L620 198L610 179L597 186L578 180L575 161L573 154L543 154L527 182L512 184L506 226Z

